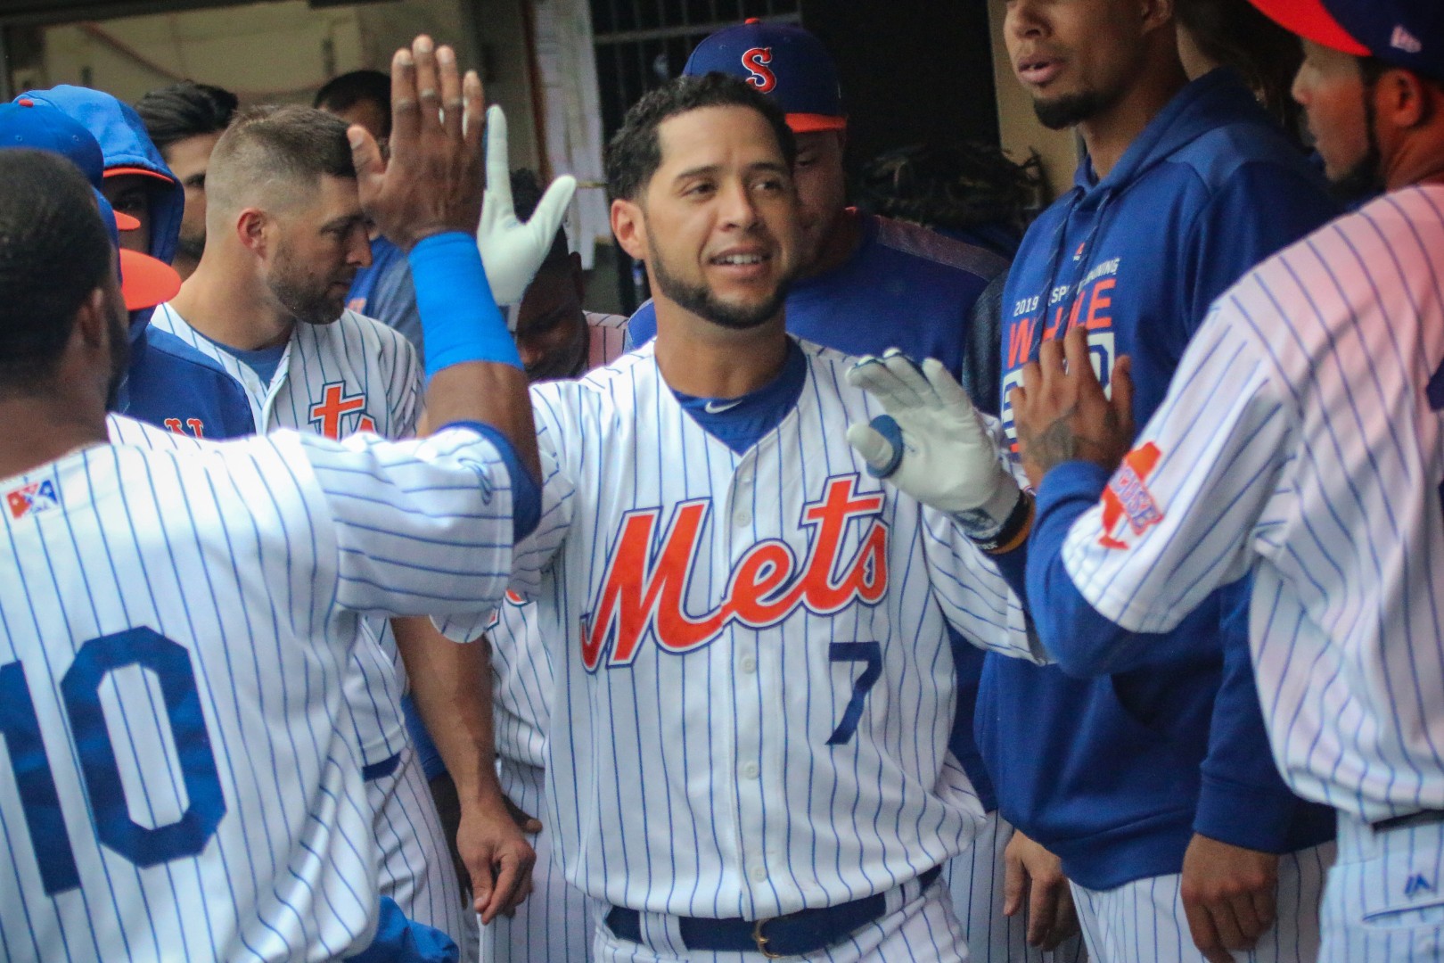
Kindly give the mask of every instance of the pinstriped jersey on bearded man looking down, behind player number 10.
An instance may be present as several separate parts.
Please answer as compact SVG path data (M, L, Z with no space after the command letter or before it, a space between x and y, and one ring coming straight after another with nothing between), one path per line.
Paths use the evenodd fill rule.
M290 427L326 437L354 432L409 437L416 430L423 391L416 349L365 315L347 310L331 325L296 325L270 384L169 305L156 309L152 323L214 358L241 383L258 432ZM406 676L390 624L365 619L362 632L367 638L355 653L357 671L348 679L347 702L361 735L361 757L373 765L406 745Z

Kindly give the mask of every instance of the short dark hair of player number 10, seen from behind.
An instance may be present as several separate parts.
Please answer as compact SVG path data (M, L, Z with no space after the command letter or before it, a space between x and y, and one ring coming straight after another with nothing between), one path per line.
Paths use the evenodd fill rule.
M0 150L0 391L33 393L116 251L90 182L59 154Z

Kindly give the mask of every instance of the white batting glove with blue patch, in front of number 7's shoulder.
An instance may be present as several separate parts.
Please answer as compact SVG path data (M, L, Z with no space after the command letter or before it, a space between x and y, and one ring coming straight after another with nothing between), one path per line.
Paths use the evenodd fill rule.
M937 360L918 368L897 348L861 358L848 384L882 406L869 424L848 426L848 442L869 472L940 511L982 513L996 526L1018 505L1019 488L967 393ZM979 520L980 521L980 520Z

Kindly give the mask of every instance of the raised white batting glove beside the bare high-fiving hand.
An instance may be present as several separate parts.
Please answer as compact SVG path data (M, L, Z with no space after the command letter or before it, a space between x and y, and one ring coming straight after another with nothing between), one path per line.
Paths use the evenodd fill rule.
M507 150L507 116L487 108L487 193L481 202L477 247L487 269L491 295L498 305L516 305L552 250L566 205L576 193L576 178L563 175L542 195L531 219L523 224L511 204L511 159Z

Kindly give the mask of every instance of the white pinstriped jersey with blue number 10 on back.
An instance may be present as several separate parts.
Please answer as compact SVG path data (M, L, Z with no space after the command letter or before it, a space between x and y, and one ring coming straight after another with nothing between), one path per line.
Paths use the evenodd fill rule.
M336 723L357 612L500 596L495 449L466 430L101 445L0 501L0 956L364 947L373 817Z

